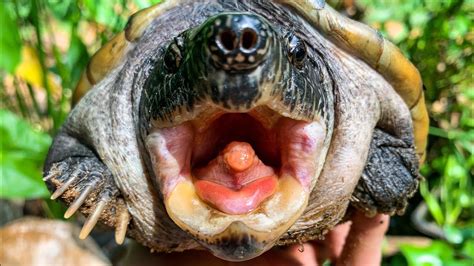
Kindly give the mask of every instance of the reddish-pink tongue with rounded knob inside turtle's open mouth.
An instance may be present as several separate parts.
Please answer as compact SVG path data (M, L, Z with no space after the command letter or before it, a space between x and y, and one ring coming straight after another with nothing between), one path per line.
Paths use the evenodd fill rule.
M206 166L194 170L198 196L228 214L256 209L276 191L278 178L246 142L231 142Z

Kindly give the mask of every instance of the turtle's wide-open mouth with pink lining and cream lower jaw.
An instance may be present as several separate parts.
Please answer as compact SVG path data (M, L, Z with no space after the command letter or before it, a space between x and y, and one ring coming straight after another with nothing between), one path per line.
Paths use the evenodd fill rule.
M153 129L147 148L177 225L212 245L233 224L244 224L246 234L269 245L305 209L325 133L319 121L264 106L248 113L209 107L177 126Z

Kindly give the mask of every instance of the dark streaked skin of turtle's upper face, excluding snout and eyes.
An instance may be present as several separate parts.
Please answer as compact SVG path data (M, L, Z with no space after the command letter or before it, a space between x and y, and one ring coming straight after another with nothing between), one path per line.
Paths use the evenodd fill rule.
M328 61L324 60L326 55L318 49L317 44L307 40L306 64L302 69L293 66L287 58L287 36L291 32L303 39L309 37L295 30L301 28L301 22L288 12L277 12L278 10L269 3L254 4L257 8L253 4L247 6L247 2L235 5L226 1L219 11L254 11L261 13L270 21L272 25L270 27L273 28L268 31L272 34L270 54L259 66L261 74L254 77L251 72L247 75L225 73L212 64L206 50L207 36L209 32L212 33L214 20L201 25L205 18L214 14L215 10L210 8L206 10L209 15L201 17L196 14L197 19L195 24L192 24L193 28L179 35L184 44L183 62L176 73L170 73L163 60L152 63L154 69L145 81L140 104L144 123L152 119L172 122L176 115L185 115L197 104L209 101L229 111L248 110L254 107L262 96L263 84L269 83L272 84L271 95L275 95L275 98L296 116L295 118L313 120L322 117L327 120L327 124L332 124L334 84L331 67L328 66ZM265 12L266 9L269 10L268 13ZM174 37L176 34L171 36ZM155 51L158 53L156 58L164 57L166 46ZM226 76L225 81L218 80L217 77L220 75Z

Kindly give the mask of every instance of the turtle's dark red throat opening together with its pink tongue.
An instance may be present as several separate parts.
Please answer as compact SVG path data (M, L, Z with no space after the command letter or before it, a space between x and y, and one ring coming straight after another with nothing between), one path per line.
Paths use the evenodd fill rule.
M225 114L196 137L200 145L192 168L202 200L222 212L242 214L256 209L275 192L275 171L280 164L275 132L250 115Z

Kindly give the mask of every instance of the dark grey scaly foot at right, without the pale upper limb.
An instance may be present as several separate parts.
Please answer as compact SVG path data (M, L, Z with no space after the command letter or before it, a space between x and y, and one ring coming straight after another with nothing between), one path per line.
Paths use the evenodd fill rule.
M419 180L414 146L375 129L367 165L352 195L352 204L370 216L402 215Z

